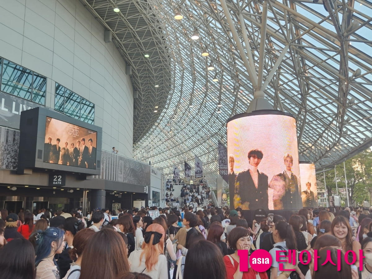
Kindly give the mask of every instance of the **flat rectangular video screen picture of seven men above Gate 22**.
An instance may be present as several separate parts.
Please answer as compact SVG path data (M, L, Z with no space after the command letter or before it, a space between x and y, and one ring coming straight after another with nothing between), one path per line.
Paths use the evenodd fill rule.
M44 162L96 169L97 132L47 117Z

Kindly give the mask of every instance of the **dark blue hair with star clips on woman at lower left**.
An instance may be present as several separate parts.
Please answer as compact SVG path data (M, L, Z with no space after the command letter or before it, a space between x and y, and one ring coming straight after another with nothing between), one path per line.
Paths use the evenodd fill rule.
M50 227L45 231L36 231L30 236L35 237L36 240L36 266L41 262L42 259L45 259L49 256L52 250L51 244L53 241L57 243L57 249L55 249L55 251L57 251L61 247L61 245L63 245L64 234L65 232L60 228Z

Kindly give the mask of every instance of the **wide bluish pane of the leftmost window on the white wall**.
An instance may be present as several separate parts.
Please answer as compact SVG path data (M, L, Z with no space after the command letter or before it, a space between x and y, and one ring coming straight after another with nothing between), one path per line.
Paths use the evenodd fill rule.
M1 91L31 100L32 71L4 59Z

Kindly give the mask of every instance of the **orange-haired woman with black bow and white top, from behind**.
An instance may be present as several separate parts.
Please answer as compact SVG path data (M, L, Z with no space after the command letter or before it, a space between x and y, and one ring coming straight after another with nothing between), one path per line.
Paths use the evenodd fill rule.
M164 228L159 224L147 227L142 250L135 250L129 256L132 272L147 274L152 279L168 278L167 259L163 255L164 235Z

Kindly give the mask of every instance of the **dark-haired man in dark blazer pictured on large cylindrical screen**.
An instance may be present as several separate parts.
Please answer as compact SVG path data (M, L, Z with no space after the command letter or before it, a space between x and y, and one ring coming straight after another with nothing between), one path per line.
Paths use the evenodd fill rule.
M259 149L248 152L248 170L239 173L235 182L235 195L238 195L240 201L236 199L234 208L238 206L243 210L269 208L268 177L257 169L262 158L263 153Z

